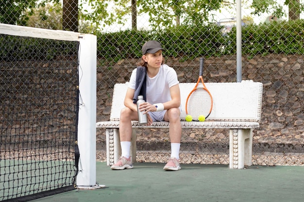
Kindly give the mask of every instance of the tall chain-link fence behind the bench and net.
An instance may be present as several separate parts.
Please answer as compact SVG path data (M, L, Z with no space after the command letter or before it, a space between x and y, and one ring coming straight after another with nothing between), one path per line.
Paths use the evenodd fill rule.
M146 40L162 43L180 82L195 82L201 56L205 82L236 82L236 0L46 1L2 1L0 22L98 36L97 121L109 120L114 84L129 80ZM253 164L304 163L303 4L242 0L242 79L262 82L264 89ZM168 133L138 130L138 159L162 162L169 153ZM184 129L182 136L184 162L228 164L228 131ZM101 129L97 145L105 147Z

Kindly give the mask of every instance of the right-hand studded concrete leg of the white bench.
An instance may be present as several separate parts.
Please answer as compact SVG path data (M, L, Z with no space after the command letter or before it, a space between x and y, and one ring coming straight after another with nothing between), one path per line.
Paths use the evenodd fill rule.
M252 165L253 129L230 129L229 168L244 169Z

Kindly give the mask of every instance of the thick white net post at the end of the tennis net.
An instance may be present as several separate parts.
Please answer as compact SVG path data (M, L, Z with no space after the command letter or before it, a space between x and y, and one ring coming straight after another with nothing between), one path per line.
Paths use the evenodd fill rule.
M79 188L96 185L96 66L97 37L80 35L78 146Z

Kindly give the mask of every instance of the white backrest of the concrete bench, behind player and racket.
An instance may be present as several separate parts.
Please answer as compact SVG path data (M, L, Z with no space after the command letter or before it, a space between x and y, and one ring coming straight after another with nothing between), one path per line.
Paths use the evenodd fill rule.
M186 117L186 98L195 83L180 83L181 119ZM206 121L251 121L261 119L263 84L245 80L239 83L206 83L213 97L213 109ZM114 86L110 121L119 121L120 109L127 92L127 83Z

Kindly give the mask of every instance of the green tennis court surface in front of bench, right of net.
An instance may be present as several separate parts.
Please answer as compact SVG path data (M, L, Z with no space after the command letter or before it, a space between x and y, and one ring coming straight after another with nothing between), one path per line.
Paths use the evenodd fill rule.
M105 188L73 190L32 202L303 202L304 167L181 165L164 171L163 163L135 163L112 171L97 162L97 182Z

